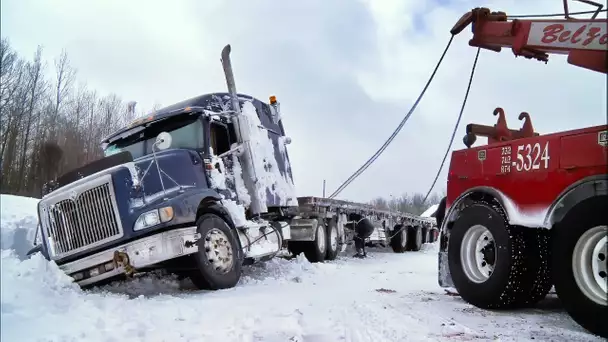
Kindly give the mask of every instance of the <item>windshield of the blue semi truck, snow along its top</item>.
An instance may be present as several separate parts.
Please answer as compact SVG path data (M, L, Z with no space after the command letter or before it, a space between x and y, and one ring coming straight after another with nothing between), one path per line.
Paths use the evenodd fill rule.
M171 134L170 148L202 149L204 147L203 125L198 116L183 116L169 118L151 123L143 131L135 132L119 140L113 141L104 150L104 155L129 151L133 159L152 153L152 145L160 132Z

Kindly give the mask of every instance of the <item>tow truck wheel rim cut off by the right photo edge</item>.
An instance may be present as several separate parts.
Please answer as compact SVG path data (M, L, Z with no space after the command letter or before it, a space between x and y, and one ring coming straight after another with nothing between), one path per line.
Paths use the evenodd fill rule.
M572 252L574 280L587 298L606 305L606 256L608 226L597 226L586 231L576 242Z

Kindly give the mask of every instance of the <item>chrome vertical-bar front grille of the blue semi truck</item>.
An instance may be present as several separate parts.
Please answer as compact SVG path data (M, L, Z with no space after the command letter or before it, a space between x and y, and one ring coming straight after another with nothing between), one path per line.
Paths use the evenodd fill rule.
M45 203L45 228L54 259L122 237L111 178L102 179L102 184L94 180Z

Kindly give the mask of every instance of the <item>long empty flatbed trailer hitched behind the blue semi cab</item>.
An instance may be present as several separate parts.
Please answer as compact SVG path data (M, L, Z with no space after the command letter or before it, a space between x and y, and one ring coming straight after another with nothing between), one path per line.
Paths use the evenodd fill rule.
M358 256L365 255L365 246L391 246L396 253L418 251L423 243L434 242L439 235L434 218L377 209L369 204L299 197L296 211L288 248L294 253L304 252L311 262L332 260L350 244L355 245ZM323 237L327 245L324 256L315 253L315 248L323 248Z

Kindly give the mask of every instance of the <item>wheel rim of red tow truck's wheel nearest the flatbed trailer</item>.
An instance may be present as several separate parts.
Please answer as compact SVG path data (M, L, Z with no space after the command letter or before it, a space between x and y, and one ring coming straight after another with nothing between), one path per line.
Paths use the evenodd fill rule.
M469 280L483 283L490 278L496 264L494 237L490 231L475 225L467 230L460 245L462 268Z

